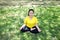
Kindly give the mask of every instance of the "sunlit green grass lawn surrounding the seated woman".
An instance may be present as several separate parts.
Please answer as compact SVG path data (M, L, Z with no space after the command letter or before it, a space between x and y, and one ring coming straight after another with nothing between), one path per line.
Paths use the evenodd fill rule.
M29 7L0 8L0 40L60 40L60 7L32 7L42 32L21 33L19 28L27 16Z

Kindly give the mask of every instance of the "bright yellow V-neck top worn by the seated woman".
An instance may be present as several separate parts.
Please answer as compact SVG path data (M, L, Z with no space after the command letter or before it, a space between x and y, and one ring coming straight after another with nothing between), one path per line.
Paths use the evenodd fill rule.
M24 24L26 26L28 26L29 28L32 28L34 27L36 24L38 23L38 20L36 17L33 16L32 19L29 18L29 16L27 16L25 19L24 19Z

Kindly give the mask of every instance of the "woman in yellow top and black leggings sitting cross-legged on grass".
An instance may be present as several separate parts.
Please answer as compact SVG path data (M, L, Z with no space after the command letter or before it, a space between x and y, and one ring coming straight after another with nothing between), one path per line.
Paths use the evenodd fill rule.
M38 25L38 20L34 16L34 10L29 9L28 11L28 16L24 19L24 24L20 28L22 32L27 32L30 31L31 33L39 33L41 30L39 29Z

